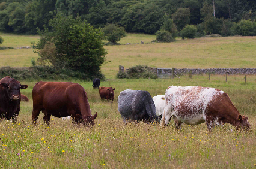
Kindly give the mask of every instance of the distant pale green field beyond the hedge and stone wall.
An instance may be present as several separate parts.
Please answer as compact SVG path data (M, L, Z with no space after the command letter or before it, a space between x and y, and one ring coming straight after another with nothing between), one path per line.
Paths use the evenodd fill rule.
M1 35L1 46L29 46L37 36ZM108 64L102 65L102 73L108 79L115 78L118 66L129 68L138 64L159 68L255 68L256 37L195 38L175 43L150 43L155 35L128 34L121 44L104 46L108 51ZM141 43L144 44L132 44ZM10 60L8 59L11 59ZM32 49L8 49L0 51L0 67L30 66L31 58L38 58Z

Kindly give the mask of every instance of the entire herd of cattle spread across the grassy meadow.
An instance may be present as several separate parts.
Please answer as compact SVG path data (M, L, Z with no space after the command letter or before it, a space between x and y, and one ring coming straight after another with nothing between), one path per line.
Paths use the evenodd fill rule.
M114 99L112 87L99 87L100 80L93 80L93 88L99 89L101 99ZM1 119L16 120L20 111L20 101L29 101L20 89L26 89L16 79L9 76L0 80ZM70 116L73 123L93 126L97 112L92 116L84 87L72 82L37 82L32 90L32 122L37 123L40 111L43 120L49 124L50 116ZM250 129L248 117L241 116L227 93L219 89L200 86L169 86L165 95L151 97L143 90L127 89L118 96L118 111L124 122L158 122L168 125L171 117L177 129L182 123L197 125L206 122L209 131L216 125L230 123L236 129Z

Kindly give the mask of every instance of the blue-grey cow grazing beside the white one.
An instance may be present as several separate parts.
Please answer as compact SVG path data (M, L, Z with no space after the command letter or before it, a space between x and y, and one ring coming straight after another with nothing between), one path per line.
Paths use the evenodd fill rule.
M124 90L118 96L118 110L124 122L126 120L134 120L135 122L160 120L156 115L154 101L147 91Z

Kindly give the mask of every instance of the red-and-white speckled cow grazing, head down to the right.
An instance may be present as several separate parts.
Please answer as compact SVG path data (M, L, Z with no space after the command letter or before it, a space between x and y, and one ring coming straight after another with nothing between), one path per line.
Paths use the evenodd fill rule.
M182 123L198 125L206 122L209 131L216 125L230 123L236 129L249 129L248 117L241 116L227 93L219 89L200 86L169 86L165 92L165 111L162 116L167 125L171 117L177 129Z

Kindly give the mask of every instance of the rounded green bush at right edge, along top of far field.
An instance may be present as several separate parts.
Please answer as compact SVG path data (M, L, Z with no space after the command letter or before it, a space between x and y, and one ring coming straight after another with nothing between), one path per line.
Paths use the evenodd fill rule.
M234 23L233 32L235 35L255 36L256 35L256 21L240 20Z

